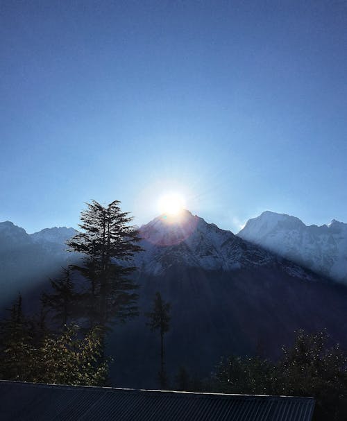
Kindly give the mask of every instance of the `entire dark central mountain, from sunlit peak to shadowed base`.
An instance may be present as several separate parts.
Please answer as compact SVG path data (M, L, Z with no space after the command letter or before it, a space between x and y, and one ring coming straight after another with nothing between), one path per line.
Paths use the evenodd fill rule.
M155 218L141 227L137 282L141 316L117 326L112 381L156 387L159 337L146 327L155 291L171 302L166 343L167 370L183 365L208 376L222 355L262 351L276 359L294 331L328 329L346 346L347 288L219 230L185 212Z

